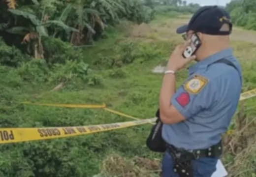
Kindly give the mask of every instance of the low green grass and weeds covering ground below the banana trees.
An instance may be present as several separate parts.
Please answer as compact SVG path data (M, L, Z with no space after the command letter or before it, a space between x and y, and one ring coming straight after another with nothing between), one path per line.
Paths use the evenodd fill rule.
M162 75L151 73L151 69L166 62L175 42L157 39L145 42L119 35L113 31L111 38L83 50L61 39L43 37L46 60L32 59L17 68L0 66L0 126L76 126L130 120L103 110L39 107L17 101L105 102L109 107L134 117L153 117L158 108ZM243 61L244 90L255 88L255 45L239 42L234 45L234 50ZM94 70L89 70L89 59L95 63L90 65ZM177 74L177 87L187 74L186 70ZM65 82L62 90L49 91L60 82ZM251 100L246 102L247 106L255 106L255 98ZM255 115L254 112L249 114ZM144 125L67 139L1 145L0 176L92 177L99 173L99 164L111 151L126 158L135 155L161 158L160 154L150 152L145 146L150 129L151 125ZM256 153L252 154L255 156ZM246 165L253 167L254 159L250 157ZM235 158L227 155L226 161L232 163ZM247 167L242 171L246 171L246 175L241 177L254 173Z

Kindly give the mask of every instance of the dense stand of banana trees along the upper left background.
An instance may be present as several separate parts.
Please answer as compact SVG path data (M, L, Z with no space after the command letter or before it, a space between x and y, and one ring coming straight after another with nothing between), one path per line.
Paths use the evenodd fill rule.
M137 0L2 0L0 36L8 45L51 64L59 61L52 45L62 47L53 38L73 45L92 44L104 36L107 26L123 18L142 23L153 17L153 10Z

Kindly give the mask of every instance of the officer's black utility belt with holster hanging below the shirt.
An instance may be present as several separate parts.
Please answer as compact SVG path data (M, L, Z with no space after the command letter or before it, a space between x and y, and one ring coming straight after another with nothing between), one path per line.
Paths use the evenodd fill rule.
M184 150L167 145L167 151L175 164L173 171L180 177L193 177L192 160L202 157L216 158L222 155L222 141L207 149Z

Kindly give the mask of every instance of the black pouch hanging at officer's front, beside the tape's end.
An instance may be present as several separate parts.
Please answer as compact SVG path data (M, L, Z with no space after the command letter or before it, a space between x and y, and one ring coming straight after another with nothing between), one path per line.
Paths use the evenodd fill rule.
M147 147L154 152L165 152L166 143L162 139L162 122L160 120L160 110L156 113L157 121L152 127L151 132L147 138Z

